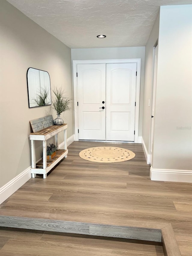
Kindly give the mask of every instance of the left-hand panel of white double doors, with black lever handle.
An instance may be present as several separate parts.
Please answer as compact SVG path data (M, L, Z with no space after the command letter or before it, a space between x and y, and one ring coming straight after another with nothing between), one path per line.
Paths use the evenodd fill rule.
M79 140L105 140L105 64L77 65Z

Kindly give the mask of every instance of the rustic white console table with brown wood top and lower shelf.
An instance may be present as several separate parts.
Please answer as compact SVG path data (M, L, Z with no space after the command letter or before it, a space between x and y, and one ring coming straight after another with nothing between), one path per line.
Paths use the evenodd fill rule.
M47 128L42 129L41 131L30 133L31 140L31 153L32 153L32 178L36 177L36 174L43 174L45 179L47 173L64 157L67 157L67 124L63 125L51 125ZM46 140L55 136L55 146L58 147L58 133L64 131L64 150L58 149L56 155L50 159L46 159ZM35 159L35 140L43 141L43 158L36 163Z

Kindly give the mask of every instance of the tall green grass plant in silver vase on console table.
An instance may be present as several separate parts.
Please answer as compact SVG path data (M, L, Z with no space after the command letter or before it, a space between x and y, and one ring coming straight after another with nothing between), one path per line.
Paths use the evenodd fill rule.
M53 108L57 113L57 118L54 120L55 125L63 125L64 120L60 117L61 113L70 110L71 99L64 96L64 91L61 88L54 88L54 98L52 100Z

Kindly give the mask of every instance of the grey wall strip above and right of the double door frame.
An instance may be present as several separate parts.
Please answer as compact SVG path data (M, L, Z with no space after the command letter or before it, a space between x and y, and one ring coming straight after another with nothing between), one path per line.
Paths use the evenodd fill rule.
M142 136L145 47L71 49L71 59L141 59L139 136Z

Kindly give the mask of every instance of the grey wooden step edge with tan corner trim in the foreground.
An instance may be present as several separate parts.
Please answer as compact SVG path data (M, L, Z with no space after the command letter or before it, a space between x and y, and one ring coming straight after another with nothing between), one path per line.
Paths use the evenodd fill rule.
M130 221L130 226L0 215L0 227L162 242L165 256L181 256L171 224Z

